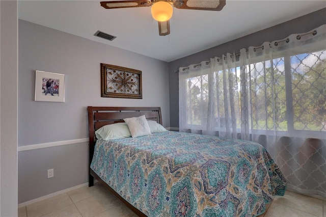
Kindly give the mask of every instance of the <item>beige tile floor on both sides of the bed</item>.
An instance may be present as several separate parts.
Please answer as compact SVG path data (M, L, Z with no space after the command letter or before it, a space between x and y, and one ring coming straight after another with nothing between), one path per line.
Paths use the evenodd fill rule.
M18 209L19 217L36 216L137 216L100 185L80 187ZM326 201L287 191L275 197L267 211L259 217L326 217Z

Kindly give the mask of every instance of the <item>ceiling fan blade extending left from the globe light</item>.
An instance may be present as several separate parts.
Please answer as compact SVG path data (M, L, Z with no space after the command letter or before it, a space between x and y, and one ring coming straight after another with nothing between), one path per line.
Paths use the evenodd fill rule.
M150 0L101 2L101 6L106 9L138 8L138 7L149 7L151 5L152 2Z

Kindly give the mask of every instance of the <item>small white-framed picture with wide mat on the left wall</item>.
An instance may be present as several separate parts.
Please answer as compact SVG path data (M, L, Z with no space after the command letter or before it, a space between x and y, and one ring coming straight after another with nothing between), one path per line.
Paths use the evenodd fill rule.
M64 102L65 75L36 70L35 101Z

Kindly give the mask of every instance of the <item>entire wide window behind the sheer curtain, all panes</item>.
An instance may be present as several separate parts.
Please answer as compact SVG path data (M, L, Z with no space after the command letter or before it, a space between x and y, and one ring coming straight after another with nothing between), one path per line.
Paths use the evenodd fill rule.
M282 56L246 67L250 129L326 131L325 50ZM239 66L224 72L216 70L212 76L207 72L186 78L186 124L205 129L209 97L215 96L212 100L214 129L229 124L239 131L243 107L241 85ZM225 91L229 94L223 94Z

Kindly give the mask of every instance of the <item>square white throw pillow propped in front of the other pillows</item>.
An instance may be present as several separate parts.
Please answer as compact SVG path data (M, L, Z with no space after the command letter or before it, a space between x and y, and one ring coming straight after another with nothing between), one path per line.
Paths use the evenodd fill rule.
M138 118L125 118L123 120L128 124L132 138L151 134L151 129L148 126L145 115Z

